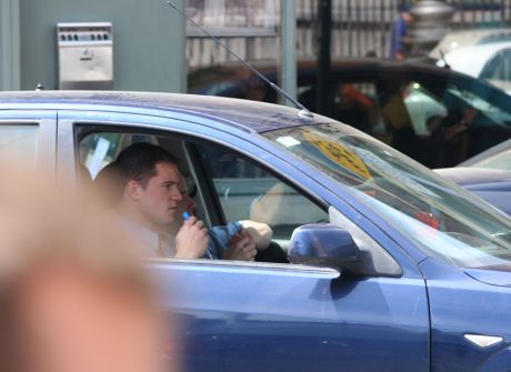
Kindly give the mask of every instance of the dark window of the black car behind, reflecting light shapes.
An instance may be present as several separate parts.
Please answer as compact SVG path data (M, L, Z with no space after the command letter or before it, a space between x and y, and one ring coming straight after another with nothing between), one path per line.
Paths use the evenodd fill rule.
M335 89L333 119L429 168L453 167L511 135L510 111L492 103L494 91L467 79L389 74L345 78ZM478 114L469 122L472 109Z

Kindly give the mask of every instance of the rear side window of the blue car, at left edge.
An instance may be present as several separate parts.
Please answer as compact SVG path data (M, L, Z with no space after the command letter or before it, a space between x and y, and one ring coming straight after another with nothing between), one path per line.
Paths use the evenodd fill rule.
M0 125L0 158L36 164L38 148L37 124L1 124Z

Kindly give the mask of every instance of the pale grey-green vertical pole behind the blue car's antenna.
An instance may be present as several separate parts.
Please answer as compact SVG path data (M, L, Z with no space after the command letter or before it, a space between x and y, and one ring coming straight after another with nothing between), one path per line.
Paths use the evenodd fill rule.
M294 0L281 0L280 6L282 19L280 79L282 89L297 99L297 6ZM285 104L294 107L289 100L285 100Z

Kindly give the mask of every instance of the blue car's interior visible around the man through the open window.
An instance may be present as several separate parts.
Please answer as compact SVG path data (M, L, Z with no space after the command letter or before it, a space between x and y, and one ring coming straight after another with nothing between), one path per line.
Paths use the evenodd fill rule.
M252 160L219 145L158 132L83 131L79 135L80 183L99 182L100 171L136 142L160 145L178 159L180 172L192 185L190 197L197 204L193 213L207 227L240 220L270 225L273 254L260 252L258 261L287 262L297 227L329 221L327 211Z

